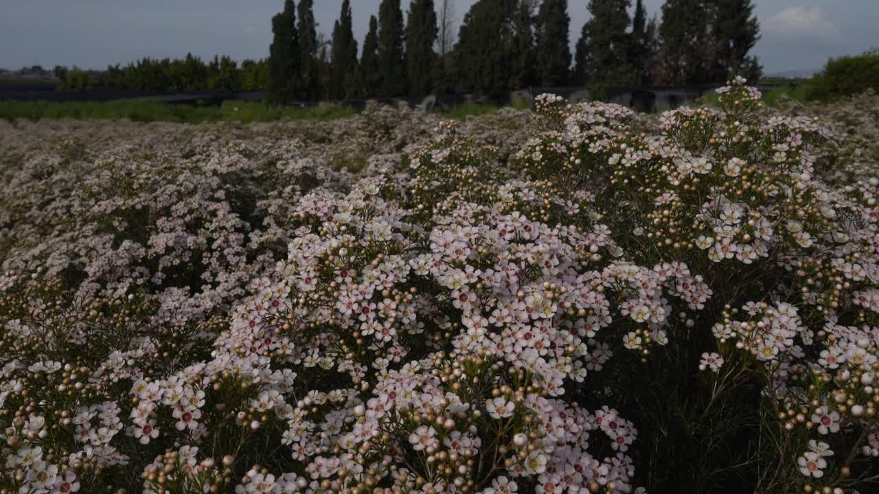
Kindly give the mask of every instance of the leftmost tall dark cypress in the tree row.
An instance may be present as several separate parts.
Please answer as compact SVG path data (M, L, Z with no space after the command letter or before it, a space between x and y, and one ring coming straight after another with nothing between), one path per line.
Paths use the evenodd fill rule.
M297 98L300 69L299 35L293 0L284 2L284 11L272 18L272 45L269 47L269 78L265 97L274 104Z

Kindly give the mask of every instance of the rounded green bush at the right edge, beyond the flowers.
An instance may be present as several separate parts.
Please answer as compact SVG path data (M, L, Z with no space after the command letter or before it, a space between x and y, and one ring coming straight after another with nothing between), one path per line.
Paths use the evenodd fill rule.
M832 101L872 88L879 91L879 49L856 56L832 58L824 72L812 78L806 91L810 100Z

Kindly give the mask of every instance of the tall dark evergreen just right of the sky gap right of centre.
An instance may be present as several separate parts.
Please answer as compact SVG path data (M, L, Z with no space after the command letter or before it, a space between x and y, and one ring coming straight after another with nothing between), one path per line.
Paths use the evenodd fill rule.
M590 0L590 83L635 84L636 70L629 63L632 36L627 33L630 0Z

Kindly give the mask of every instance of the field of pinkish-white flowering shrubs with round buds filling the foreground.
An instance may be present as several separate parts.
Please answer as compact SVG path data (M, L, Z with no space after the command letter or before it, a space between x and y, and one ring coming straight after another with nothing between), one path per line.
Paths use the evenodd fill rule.
M879 98L718 91L0 123L0 494L877 491Z

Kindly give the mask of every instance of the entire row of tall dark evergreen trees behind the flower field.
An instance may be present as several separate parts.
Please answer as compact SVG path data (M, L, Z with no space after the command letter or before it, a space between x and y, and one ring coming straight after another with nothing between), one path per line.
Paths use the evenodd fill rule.
M312 0L286 0L272 18L267 92L273 102L315 98L492 93L530 86L667 86L756 79L752 0L589 0L591 18L571 53L567 0L478 0L453 43L451 0L382 0L359 49L349 0L318 52Z

